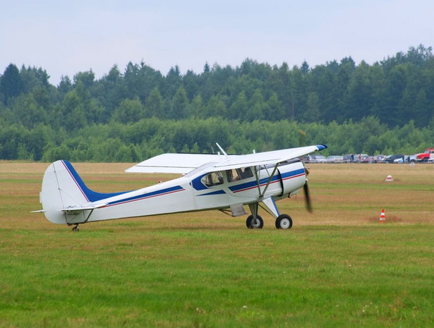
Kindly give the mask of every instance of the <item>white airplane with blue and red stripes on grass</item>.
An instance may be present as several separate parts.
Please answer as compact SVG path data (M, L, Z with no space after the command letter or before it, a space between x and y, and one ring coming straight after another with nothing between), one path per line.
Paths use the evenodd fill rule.
M180 178L138 190L97 193L85 186L71 163L59 160L44 174L40 202L45 217L55 224L74 225L93 221L145 217L157 214L219 209L239 217L251 215L246 226L262 229L258 205L276 219L277 229L291 229L292 219L280 214L276 200L289 198L301 188L311 211L306 176L308 170L299 159L327 148L326 145L275 150L246 155L161 154L127 169L137 173L183 174Z

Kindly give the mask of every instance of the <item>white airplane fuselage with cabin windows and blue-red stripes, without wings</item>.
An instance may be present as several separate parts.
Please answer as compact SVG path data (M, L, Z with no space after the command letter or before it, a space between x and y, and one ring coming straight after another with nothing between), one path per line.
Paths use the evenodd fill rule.
M47 218L55 223L79 224L175 212L226 209L231 205L257 203L271 196L274 200L287 198L306 182L306 170L299 160L280 164L274 174L273 171L274 166L212 172L207 171L206 167L199 168L155 186L111 194L108 198L82 204L95 209L58 212L54 216L47 215Z

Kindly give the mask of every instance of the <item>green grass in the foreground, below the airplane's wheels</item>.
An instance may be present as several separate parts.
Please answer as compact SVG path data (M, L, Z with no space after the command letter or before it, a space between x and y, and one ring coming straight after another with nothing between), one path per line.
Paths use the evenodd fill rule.
M0 324L424 327L434 320L433 232L166 230L145 221L80 233L1 229Z

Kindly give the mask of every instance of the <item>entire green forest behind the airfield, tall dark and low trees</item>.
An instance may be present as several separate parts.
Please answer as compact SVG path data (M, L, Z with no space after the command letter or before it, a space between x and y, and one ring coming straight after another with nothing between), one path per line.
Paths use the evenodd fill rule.
M0 75L0 159L138 162L162 152L248 153L324 143L325 154L414 154L434 146L432 47L358 65L290 68L252 59L202 73L144 62L59 85L43 68Z

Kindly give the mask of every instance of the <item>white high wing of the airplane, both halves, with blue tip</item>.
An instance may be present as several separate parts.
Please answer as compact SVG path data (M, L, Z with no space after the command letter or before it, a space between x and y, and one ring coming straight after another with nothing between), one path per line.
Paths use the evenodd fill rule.
M126 172L187 174L205 164L210 164L207 171L224 171L246 166L279 164L325 148L326 145L313 145L246 155L161 154L132 166Z

